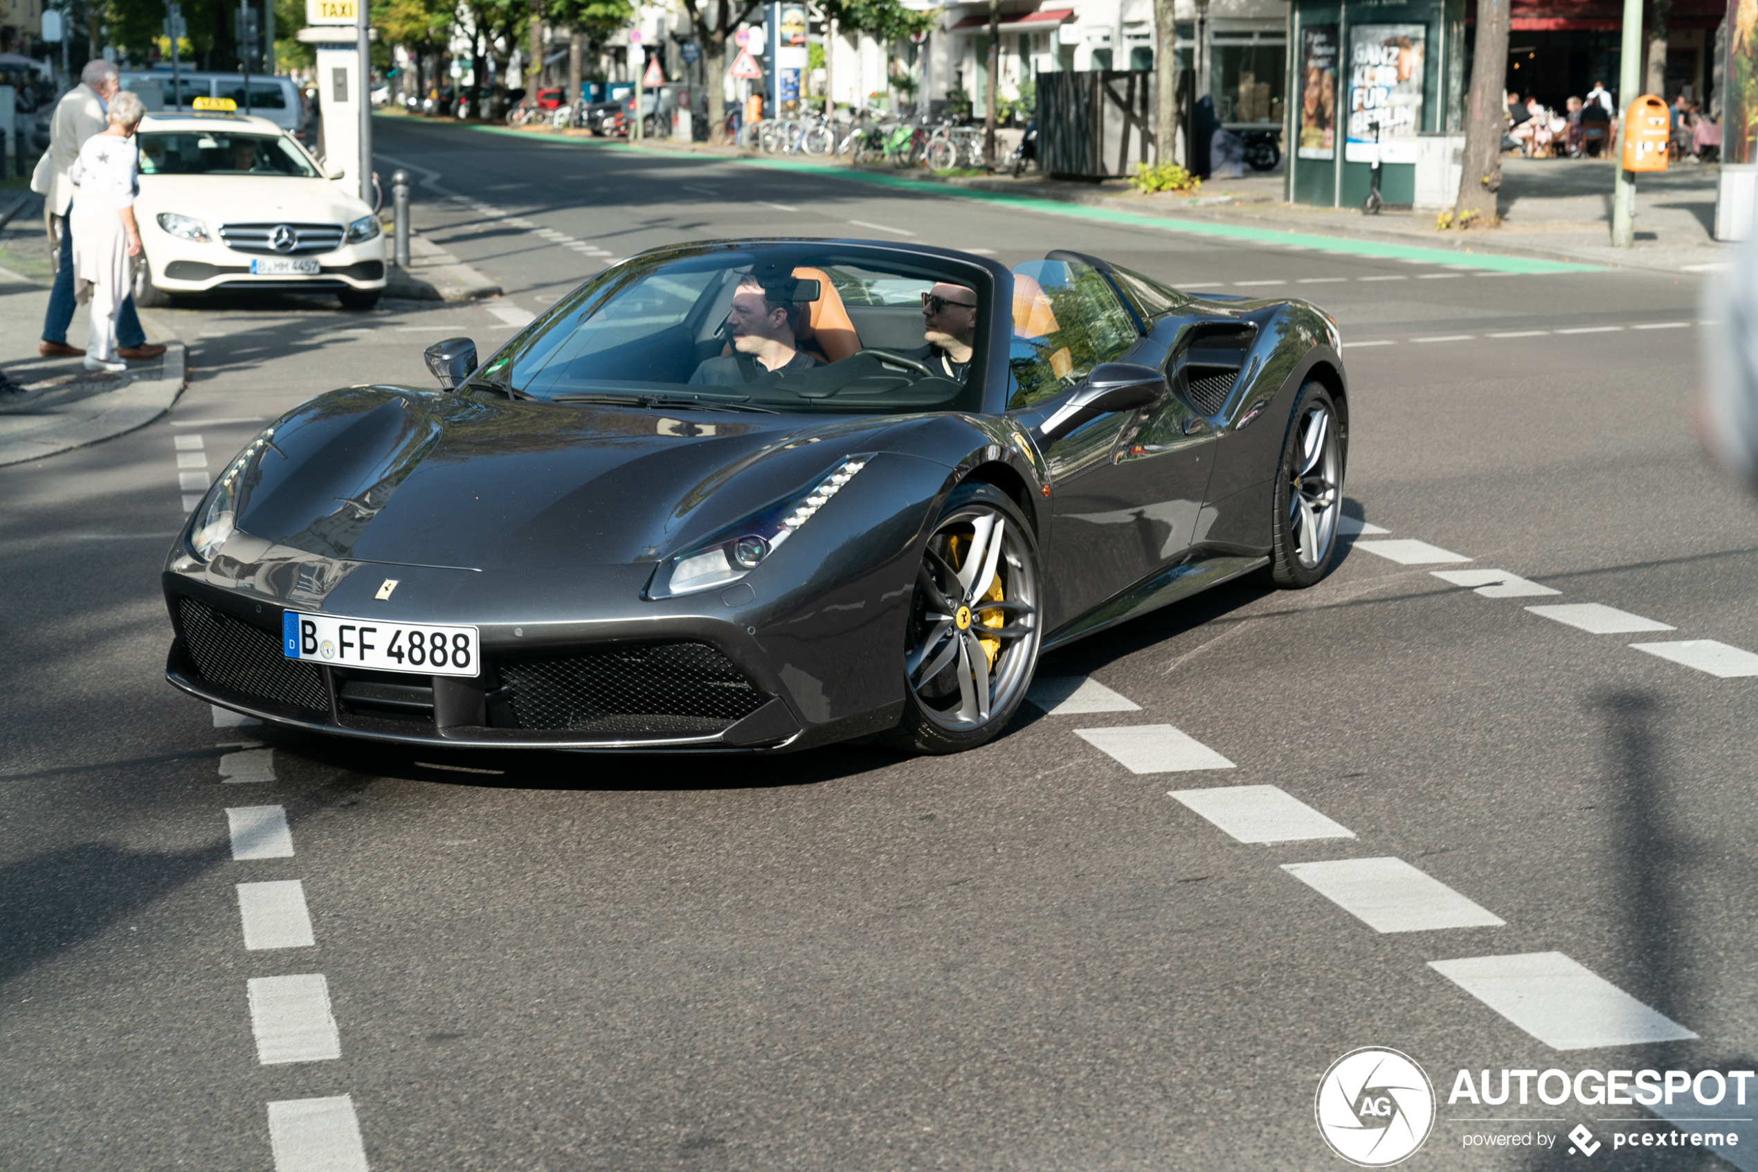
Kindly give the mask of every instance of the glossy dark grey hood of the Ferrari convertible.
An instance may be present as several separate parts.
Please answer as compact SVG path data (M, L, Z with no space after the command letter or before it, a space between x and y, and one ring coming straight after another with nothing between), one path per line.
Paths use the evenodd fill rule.
M332 559L626 566L810 487L902 420L619 409L355 387L271 429L237 527Z

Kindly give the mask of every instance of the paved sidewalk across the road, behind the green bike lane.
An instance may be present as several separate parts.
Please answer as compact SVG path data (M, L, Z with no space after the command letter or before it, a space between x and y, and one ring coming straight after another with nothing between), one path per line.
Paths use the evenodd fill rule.
M643 139L636 144L592 139L584 130L548 128L508 130L471 127L482 134L515 134L592 142L605 148L640 149L668 155L737 158L772 167L802 167L817 174L881 183L893 188L953 188L976 199L1006 197L1046 200L1116 213L1127 218L1164 221L1167 228L1190 228L1311 244L1315 239L1359 241L1389 246L1389 251L1422 250L1429 255L1463 253L1470 257L1510 257L1556 262L1559 265L1649 269L1661 272L1711 272L1725 267L1732 244L1712 239L1716 211L1714 163L1679 163L1667 172L1642 176L1637 184L1637 246L1612 248L1610 206L1614 170L1603 160L1531 160L1503 158L1503 183L1498 193L1501 223L1491 228L1436 230L1435 211L1382 213L1362 216L1355 207L1308 207L1282 200L1282 170L1248 174L1243 179L1204 183L1195 195L1143 195L1123 179L1074 183L1027 174L1020 179L986 176L972 179L942 177L926 170L891 167L851 167L821 160L793 160L758 155L738 148L684 144L670 139ZM1352 250L1354 251L1354 250ZM1366 251L1366 250L1362 250Z

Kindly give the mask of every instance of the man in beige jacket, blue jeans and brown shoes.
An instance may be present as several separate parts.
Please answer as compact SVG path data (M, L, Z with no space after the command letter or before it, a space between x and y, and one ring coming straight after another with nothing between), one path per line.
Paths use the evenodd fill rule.
M70 170L79 158L79 148L95 134L102 134L109 125L104 107L116 91L121 79L109 61L90 61L79 74L79 84L69 90L54 107L54 121L49 128L49 149L37 163L30 177L30 190L42 195L44 211L51 216L60 237L60 257L54 274L54 288L49 290L49 311L42 318L42 341L37 353L44 358L81 358L84 350L67 344L67 327L74 320L74 235L69 227L69 209L79 195ZM163 346L146 341L141 318L134 311L134 297L121 306L116 320L116 353L135 362L151 360L165 353Z

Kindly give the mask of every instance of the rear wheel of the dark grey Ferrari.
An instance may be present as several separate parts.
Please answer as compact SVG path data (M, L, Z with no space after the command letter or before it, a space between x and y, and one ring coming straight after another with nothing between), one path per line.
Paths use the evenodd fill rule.
M1336 401L1324 383L1301 387L1276 471L1275 548L1264 569L1269 585L1304 590L1331 569L1336 525L1343 515L1347 448L1340 422Z

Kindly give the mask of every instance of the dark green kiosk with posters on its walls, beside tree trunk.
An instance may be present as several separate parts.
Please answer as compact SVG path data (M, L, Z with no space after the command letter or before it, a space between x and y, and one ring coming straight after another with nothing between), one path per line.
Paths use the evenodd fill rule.
M1380 160L1380 195L1417 202L1417 167L1461 130L1464 0L1294 0L1289 200L1352 207Z

